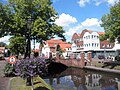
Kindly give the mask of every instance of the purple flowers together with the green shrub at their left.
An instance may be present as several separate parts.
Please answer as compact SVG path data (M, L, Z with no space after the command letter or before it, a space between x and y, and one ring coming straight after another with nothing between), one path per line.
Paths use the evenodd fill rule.
M12 65L6 63L4 68L5 76L20 76L22 78L33 77L35 75L45 75L47 73L46 61L44 58L17 60Z

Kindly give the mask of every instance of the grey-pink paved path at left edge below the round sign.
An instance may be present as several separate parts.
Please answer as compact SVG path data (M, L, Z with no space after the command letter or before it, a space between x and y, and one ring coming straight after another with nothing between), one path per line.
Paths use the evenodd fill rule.
M3 69L5 66L5 61L0 61L0 90L8 90L9 79L8 77L4 77Z

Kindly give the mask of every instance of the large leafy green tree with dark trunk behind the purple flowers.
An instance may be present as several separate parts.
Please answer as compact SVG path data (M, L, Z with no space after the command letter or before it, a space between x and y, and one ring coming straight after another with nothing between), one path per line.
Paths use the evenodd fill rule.
M42 42L57 35L65 40L63 28L54 23L57 13L50 0L9 0L6 8L10 23L5 25L9 26L10 35L25 38L25 56L30 57L32 39Z

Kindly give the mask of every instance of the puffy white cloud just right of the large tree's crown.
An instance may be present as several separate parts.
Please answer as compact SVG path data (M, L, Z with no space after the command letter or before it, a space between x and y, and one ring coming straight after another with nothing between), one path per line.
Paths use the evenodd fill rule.
M59 26L69 26L72 23L76 23L77 19L75 17L70 16L69 14L62 13L58 19L56 19L55 23Z

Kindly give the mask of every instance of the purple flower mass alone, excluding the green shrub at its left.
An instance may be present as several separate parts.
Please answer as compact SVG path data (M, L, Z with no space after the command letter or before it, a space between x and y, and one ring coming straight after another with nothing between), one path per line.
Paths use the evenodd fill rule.
M15 75L23 78L44 75L47 66L44 58L18 60L15 63Z

